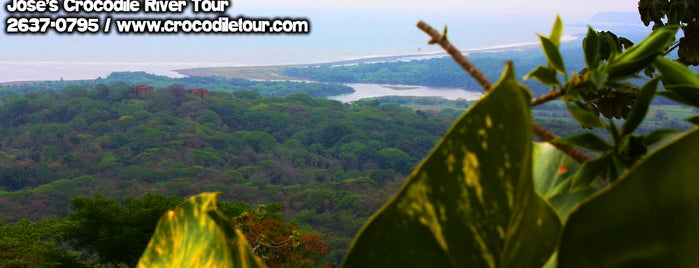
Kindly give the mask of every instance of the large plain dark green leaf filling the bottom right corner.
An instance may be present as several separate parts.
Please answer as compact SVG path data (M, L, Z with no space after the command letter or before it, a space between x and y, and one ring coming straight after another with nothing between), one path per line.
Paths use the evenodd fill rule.
M573 211L561 267L694 267L699 263L699 129L640 160Z

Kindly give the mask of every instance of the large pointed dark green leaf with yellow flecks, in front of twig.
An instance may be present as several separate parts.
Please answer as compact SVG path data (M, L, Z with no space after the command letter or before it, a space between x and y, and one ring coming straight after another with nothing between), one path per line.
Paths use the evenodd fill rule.
M346 267L540 267L560 220L534 193L530 95L510 65L361 230Z

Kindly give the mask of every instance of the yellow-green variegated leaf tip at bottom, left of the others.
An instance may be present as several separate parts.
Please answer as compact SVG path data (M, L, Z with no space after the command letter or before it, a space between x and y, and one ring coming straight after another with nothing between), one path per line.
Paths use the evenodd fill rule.
M216 196L199 194L166 212L138 267L266 267L218 213Z

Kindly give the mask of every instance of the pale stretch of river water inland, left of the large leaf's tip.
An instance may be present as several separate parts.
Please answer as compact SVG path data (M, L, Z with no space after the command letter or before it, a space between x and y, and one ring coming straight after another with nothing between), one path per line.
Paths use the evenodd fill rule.
M406 96L406 97L439 97L447 100L478 100L483 93L466 90L462 88L450 87L427 87L416 85L389 85L389 84L368 84L368 83L348 83L345 84L354 89L354 93L329 96L328 99L341 102L353 102L366 98L378 98L383 96Z

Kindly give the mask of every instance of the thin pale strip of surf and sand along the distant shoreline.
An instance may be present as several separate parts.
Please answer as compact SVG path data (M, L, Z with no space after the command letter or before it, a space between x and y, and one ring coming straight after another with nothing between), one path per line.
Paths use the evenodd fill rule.
M579 37L565 36L562 42L578 40ZM463 49L465 55L471 53L503 52L513 50L536 49L538 42L513 43L497 46L487 46L473 49ZM337 61L299 63L299 64L260 64L260 65L239 65L235 63L205 63L205 62L0 62L0 70L7 70L6 73L19 73L19 77L12 76L0 79L0 86L22 85L47 81L76 81L92 80L105 77L112 72L132 71L147 72L156 75L164 75L172 78L184 76L218 76L225 78L239 78L247 80L273 80L273 81L304 81L305 79L281 75L286 68L305 68L309 66L346 66L363 63L380 63L423 60L432 58L448 57L445 51L432 51L421 53L397 54L397 55L374 55L361 58L350 58ZM87 68L87 69L85 69ZM12 69L12 72L9 70ZM59 71L68 70L68 74ZM38 77L33 74L37 71L50 73L51 77ZM65 77L63 76L65 75Z

